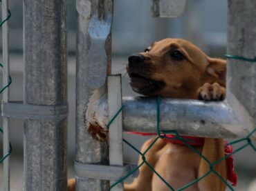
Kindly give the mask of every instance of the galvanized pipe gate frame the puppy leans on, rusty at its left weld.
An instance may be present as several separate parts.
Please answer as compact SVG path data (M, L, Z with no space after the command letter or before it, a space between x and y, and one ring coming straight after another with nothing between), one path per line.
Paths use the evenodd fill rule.
M156 0L154 3L159 3ZM175 0L174 0L175 1ZM104 41L100 43L104 46L106 54L101 54L100 51L95 50L95 54L98 53L98 57L102 55L104 63L107 64L109 70L105 74L110 73L110 47L109 41L111 39L111 32L106 38L99 37L93 39L90 37L90 25L98 24L98 28L102 27L105 30L106 26L100 26L100 21L104 22L104 18L111 12L102 14L103 17L98 17L98 23L94 22L95 15L93 12L104 10L108 5L112 6L112 1L90 1L90 0L77 0L77 123L76 123L76 157L75 157L75 177L77 190L105 190L108 186L106 181L100 181L99 179L92 179L88 174L84 174L84 177L79 177L81 174L80 167L94 164L108 165L108 150L102 145L102 142L93 138L91 134L91 124L97 124L98 128L104 129L111 119L107 114L107 96L106 88L104 86L94 86L90 81L90 76L93 74L86 73L86 67L93 67L96 62L93 59L88 59L89 54L85 52L90 51L90 43L92 41ZM109 4L108 4L109 3ZM252 34L252 31L256 31L256 26L248 25L246 21L243 21L243 14L252 16L253 10L256 10L256 2L250 0L244 2L243 0L229 1L228 2L228 53L253 58L256 55L256 45L253 45L253 39L256 41L256 35ZM242 4L242 6L241 6ZM157 9L156 9L157 10ZM161 10L157 10L161 12ZM102 15L101 14L101 15ZM237 18L237 19L235 19ZM250 18L250 23L256 23L256 17ZM239 22L238 22L239 20ZM254 21L254 22L253 22ZM111 23L109 22L109 25ZM107 26L109 28L110 26ZM233 32L232 30L235 30ZM89 32L87 32L89 31ZM243 36L243 32L246 32L248 36ZM91 32L92 33L92 32ZM243 38L244 41L239 41ZM239 46L239 48L237 48ZM242 47L242 49L241 49ZM87 51L84 49L87 48ZM102 49L100 49L102 51ZM88 56L86 56L88 55ZM97 58L96 60L98 60ZM98 63L97 63L98 64ZM219 137L219 138L235 138L244 137L251 132L255 127L256 121L256 65L247 63L246 61L237 61L235 59L228 59L228 73L227 73L227 99L223 103L203 103L202 101L189 101L189 100L173 100L163 99L161 104L161 127L163 130L177 130L180 134L189 134L192 136L204 136L204 137ZM246 71L246 73L239 73L239 70ZM82 74L86 74L86 77L82 77ZM106 77L106 75L102 77ZM239 76L238 76L239 74ZM89 76L89 77L88 77ZM95 77L95 76L94 76ZM102 81L100 77L99 81ZM248 77L248 78L247 78ZM89 79L86 81L86 78ZM243 82L241 82L243 78ZM97 80L97 78L94 78ZM244 85L246 83L246 86ZM102 83L103 85L104 83ZM239 91L237 84L243 90ZM103 88L102 88L103 87ZM83 88L81 90L81 88ZM238 90L238 91L237 91ZM121 90L120 90L121 91ZM110 93L110 92L109 92ZM84 94L83 97L81 94ZM251 99L244 97L242 94L249 94ZM111 99L111 98L109 98ZM153 99L142 98L123 98L122 101L126 101L126 107L122 112L123 128L127 131L136 132L152 132L154 124L156 124L156 106ZM243 106L244 105L244 106ZM145 110L147 108L147 110ZM150 108L150 109L149 109ZM163 109L164 108L164 109ZM174 108L174 109L173 109ZM177 108L180 112L177 113ZM150 112L148 112L150 110ZM188 110L191 113L188 113ZM196 117L196 111L203 111L202 116ZM167 111L167 112L166 112ZM207 111L207 112L205 112ZM221 111L219 114L216 112ZM93 114L93 115L92 115ZM215 117L215 119L212 117ZM93 117L92 117L93 116ZM174 116L174 117L172 117ZM196 119L196 120L194 120ZM203 123L201 120L203 119ZM172 127L170 127L172 122ZM143 127L143 129L141 128ZM145 128L149 127L149 128ZM120 127L121 128L121 127ZM99 135L99 132L93 132ZM107 136L107 132L105 132ZM115 139L118 139L117 137ZM118 143L120 142L118 139ZM252 139L256 139L256 134L252 135ZM93 152L93 154L91 154ZM110 156L111 157L111 156ZM83 168L86 170L86 168ZM102 168L102 170L104 170ZM107 177L105 178L107 179ZM119 188L117 188L119 189ZM120 189L122 190L122 189Z

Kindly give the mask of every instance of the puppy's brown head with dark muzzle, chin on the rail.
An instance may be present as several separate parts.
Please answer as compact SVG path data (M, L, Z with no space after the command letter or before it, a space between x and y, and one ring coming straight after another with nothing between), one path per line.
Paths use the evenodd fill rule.
M147 96L196 99L204 83L226 83L226 61L207 57L183 39L155 42L128 60L131 88Z

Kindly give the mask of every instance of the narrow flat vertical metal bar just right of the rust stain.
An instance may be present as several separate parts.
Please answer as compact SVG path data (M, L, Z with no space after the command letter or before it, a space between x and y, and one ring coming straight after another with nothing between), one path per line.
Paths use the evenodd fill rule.
M122 107L122 87L121 75L108 77L108 105L109 120ZM123 165L122 157L122 112L109 126L109 165ZM112 185L116 181L110 181ZM113 187L114 191L124 190L123 183Z

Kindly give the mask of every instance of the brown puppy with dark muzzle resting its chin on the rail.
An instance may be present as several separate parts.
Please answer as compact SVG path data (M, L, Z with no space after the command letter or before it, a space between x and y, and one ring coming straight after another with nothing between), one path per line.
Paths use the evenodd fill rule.
M176 99L219 101L226 97L226 61L207 57L199 48L183 39L163 39L153 43L145 52L129 57L127 67L131 87L146 96ZM142 152L154 139L146 141ZM205 139L203 146L195 146L210 162L224 157L223 139ZM176 190L203 176L210 168L205 160L185 145L158 139L145 155L154 167ZM138 163L141 163L140 157ZM226 180L226 161L214 165ZM186 190L222 191L226 185L214 173L190 185ZM147 165L125 190L170 190Z

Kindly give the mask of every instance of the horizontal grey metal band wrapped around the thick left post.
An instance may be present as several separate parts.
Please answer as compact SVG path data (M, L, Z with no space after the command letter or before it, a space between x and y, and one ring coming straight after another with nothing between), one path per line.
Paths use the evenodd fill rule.
M68 116L68 104L63 105L32 105L22 101L1 105L2 116L21 119L64 119Z

